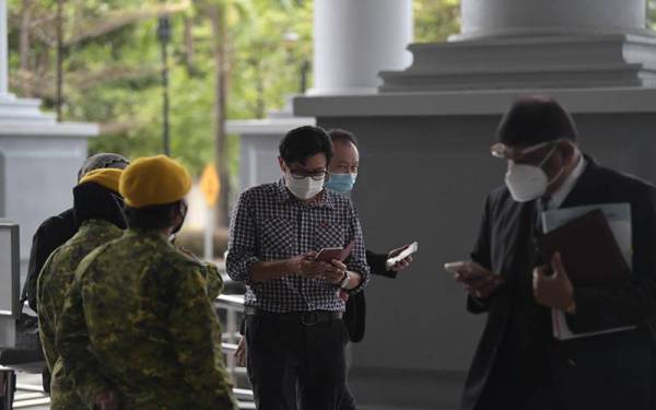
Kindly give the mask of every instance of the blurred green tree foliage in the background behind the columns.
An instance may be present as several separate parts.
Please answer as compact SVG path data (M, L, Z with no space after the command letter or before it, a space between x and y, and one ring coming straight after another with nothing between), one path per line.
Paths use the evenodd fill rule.
M649 24L656 0L648 2ZM10 86L56 104L57 0L9 0ZM226 113L262 118L302 91L312 62L311 0L63 0L63 119L101 124L92 151L162 151L157 16L169 15L173 155L195 174L214 161L215 42L208 7L225 10ZM417 42L458 33L459 0L413 0ZM311 70L312 71L312 70ZM238 141L226 140L230 169ZM235 180L232 177L232 184Z

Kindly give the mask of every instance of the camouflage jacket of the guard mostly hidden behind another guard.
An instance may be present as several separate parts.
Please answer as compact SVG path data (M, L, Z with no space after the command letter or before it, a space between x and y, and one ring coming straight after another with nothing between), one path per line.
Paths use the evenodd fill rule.
M120 237L122 231L104 220L89 220L82 223L72 238L57 248L46 260L37 282L39 336L50 380L50 408L84 409L72 382L61 370L61 361L55 349L55 331L63 307L63 298L73 282L80 261L93 249Z

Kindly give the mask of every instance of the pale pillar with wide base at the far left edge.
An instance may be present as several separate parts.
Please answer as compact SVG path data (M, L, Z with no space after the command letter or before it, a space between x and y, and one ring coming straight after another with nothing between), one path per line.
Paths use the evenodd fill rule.
M40 222L71 206L71 188L86 157L94 124L57 122L40 101L9 92L7 0L0 0L0 218L21 226L25 277L32 235Z

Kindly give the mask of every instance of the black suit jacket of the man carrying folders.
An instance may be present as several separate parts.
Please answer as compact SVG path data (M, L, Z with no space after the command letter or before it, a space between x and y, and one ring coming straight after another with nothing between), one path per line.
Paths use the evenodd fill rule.
M557 341L549 338L544 356L553 387L566 409L652 409L656 386L653 366L656 336L656 187L637 178L600 167L591 157L561 208L629 202L633 229L633 271L621 285L576 288L576 314L567 317L575 331L599 327L637 325L633 331ZM461 408L495 409L481 400L485 387L494 385L496 397L517 394L516 383L493 384L497 370L512 363L497 363L499 352L515 340L507 337L513 312L512 284L531 274L526 257L526 235L531 203L515 202L507 188L494 190L487 199L472 259L506 283L484 301L468 297L473 314L488 314L488 320L467 377ZM526 330L527 332L530 329ZM513 333L515 335L515 333ZM504 361L523 361L505 355ZM489 397L485 395L483 397Z

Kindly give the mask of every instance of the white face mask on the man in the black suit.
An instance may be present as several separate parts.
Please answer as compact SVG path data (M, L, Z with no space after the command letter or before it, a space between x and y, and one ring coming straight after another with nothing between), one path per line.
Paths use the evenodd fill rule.
M528 202L542 197L549 185L562 174L563 169L549 180L547 173L542 171L542 165L551 157L555 149L557 147L553 147L538 166L511 162L505 175L505 184L515 201Z

